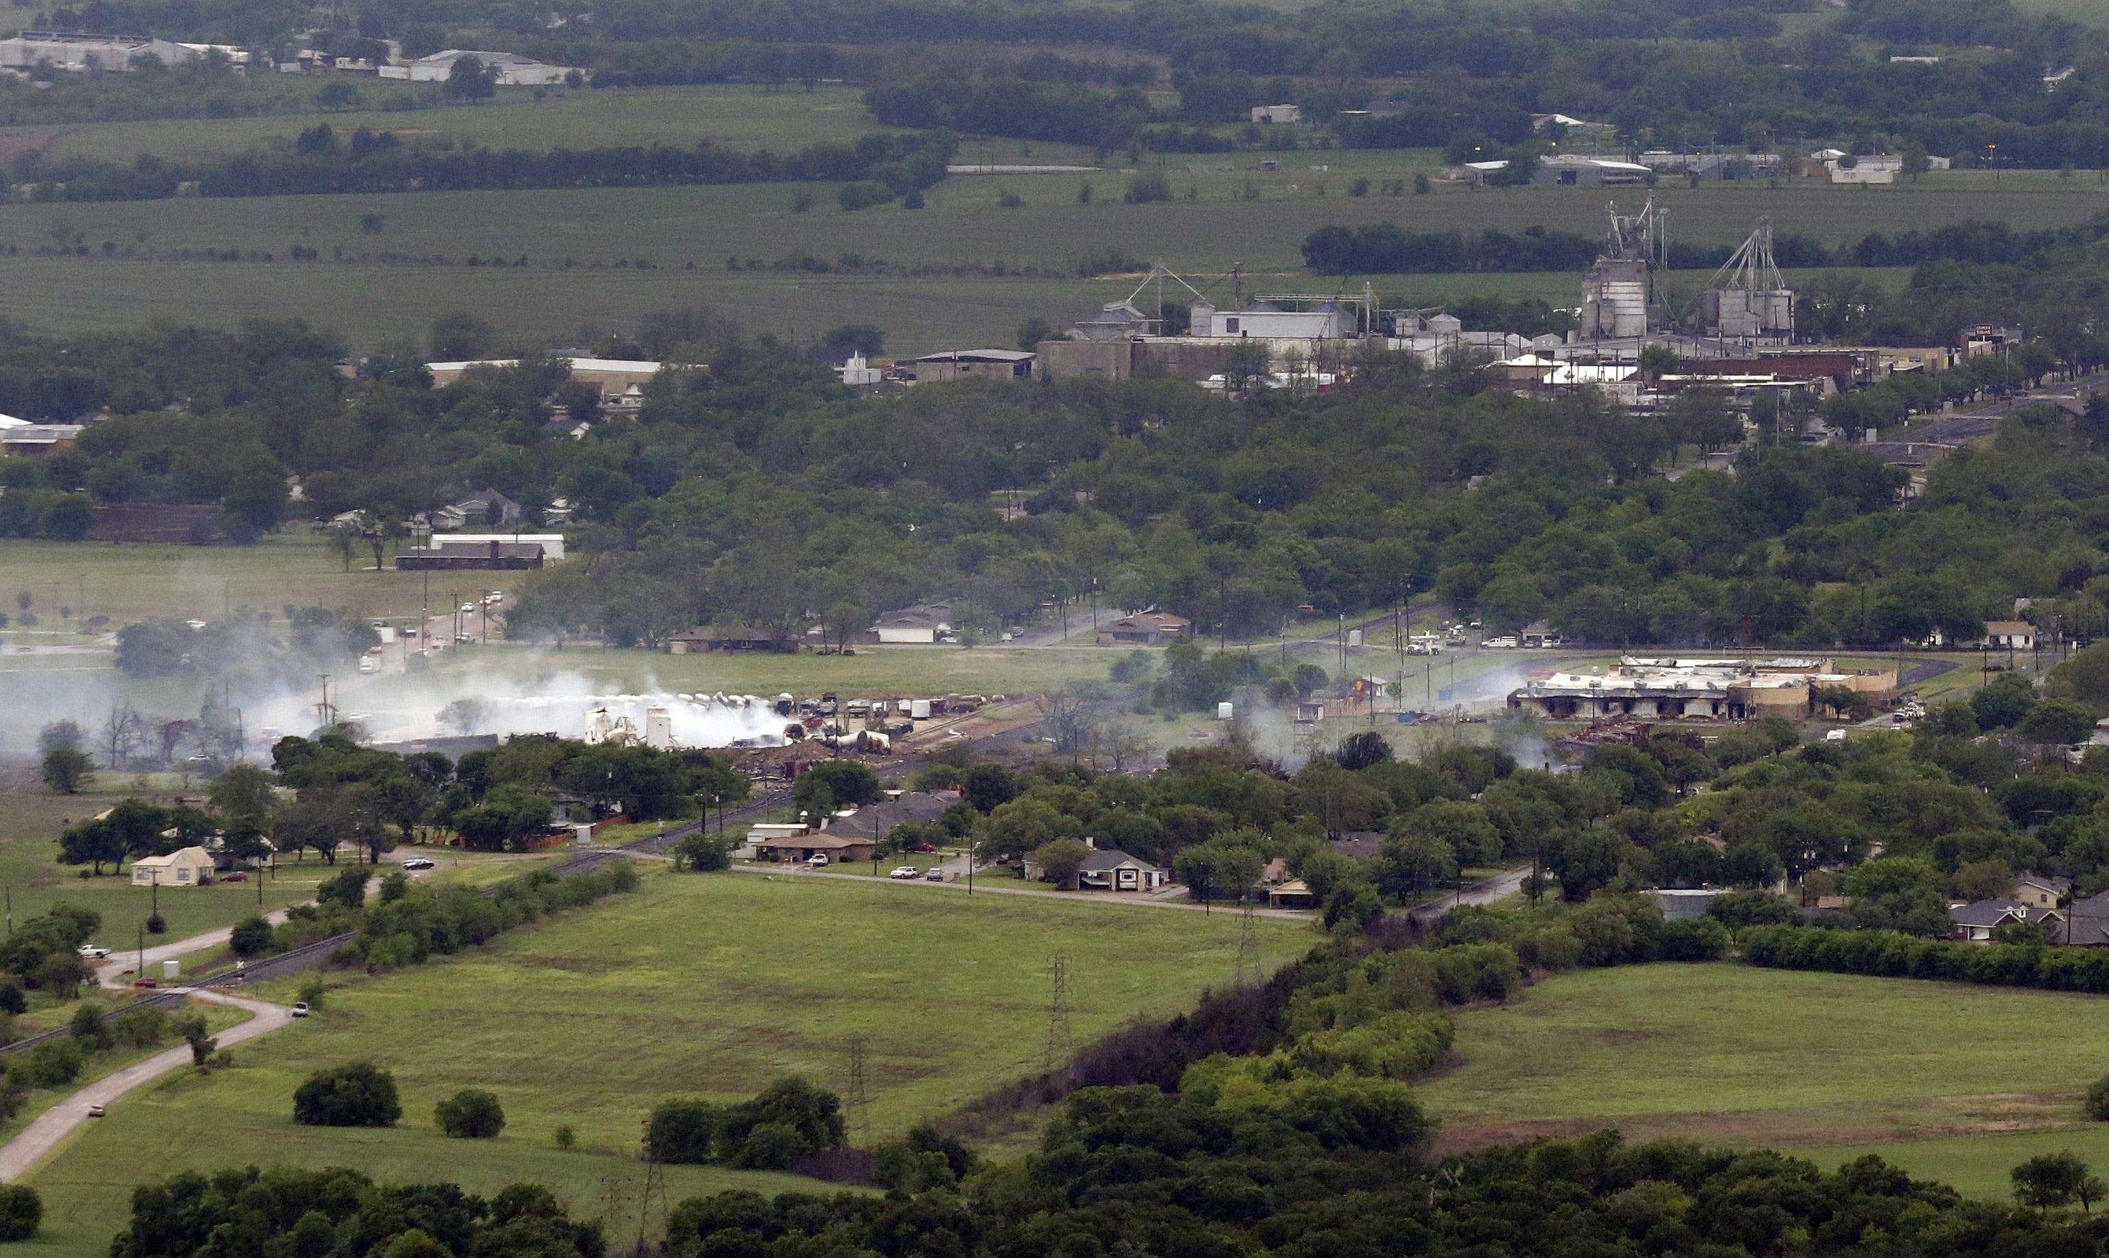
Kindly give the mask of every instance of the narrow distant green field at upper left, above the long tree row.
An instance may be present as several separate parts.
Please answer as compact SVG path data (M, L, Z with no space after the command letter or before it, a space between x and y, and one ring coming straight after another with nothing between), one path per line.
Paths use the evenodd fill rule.
M356 80L354 80L356 82ZM420 84L422 86L422 84ZM361 84L369 103L409 89ZM312 95L312 91L310 91ZM308 105L310 101L289 101ZM291 150L293 137L316 122L337 135L367 126L394 131L405 141L453 141L479 148L607 148L713 143L753 150L799 150L820 141L854 141L882 131L865 112L860 89L823 86L766 91L759 86L669 86L650 91L548 93L500 91L498 99L437 110L346 110L340 114L272 114L262 118L175 118L152 122L86 122L0 126L0 145L15 137L51 139L57 158L131 162L154 154L171 162L232 156L251 150Z

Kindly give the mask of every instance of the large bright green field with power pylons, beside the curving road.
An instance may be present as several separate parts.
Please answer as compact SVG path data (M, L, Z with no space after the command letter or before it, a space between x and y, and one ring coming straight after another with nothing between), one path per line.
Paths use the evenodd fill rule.
M1297 923L1261 919L1257 929L1270 965L1312 942ZM236 1070L112 1106L32 1176L49 1214L30 1250L99 1252L131 1184L251 1161L445 1176L477 1191L538 1180L597 1214L605 1182L641 1176L637 1123L664 1096L732 1100L791 1070L841 1087L848 1037L863 1035L869 1138L886 1138L1040 1066L1054 952L1069 959L1082 1041L1137 1014L1189 1007L1232 978L1236 948L1236 915L647 874L637 896L489 948L354 978L318 1018L238 1051ZM348 1060L394 1070L403 1125L293 1127L293 1087ZM432 1129L432 1104L468 1085L498 1092L510 1123L502 1138L449 1142ZM555 1151L559 1123L578 1129L580 1148ZM730 1184L776 1191L785 1178L677 1167L669 1201Z

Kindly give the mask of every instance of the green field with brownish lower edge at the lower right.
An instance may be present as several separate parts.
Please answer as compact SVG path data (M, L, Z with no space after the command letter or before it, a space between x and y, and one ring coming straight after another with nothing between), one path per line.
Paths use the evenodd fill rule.
M1464 1014L1459 1064L1421 1098L1457 1146L1605 1125L1750 1146L1953 1142L2077 1125L2105 1030L2109 1001L2086 995L1597 969Z

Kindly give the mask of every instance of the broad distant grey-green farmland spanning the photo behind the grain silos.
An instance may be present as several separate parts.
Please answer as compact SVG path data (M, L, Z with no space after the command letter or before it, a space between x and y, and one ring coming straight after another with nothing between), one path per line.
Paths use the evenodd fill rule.
M1065 156L1036 152L1033 160ZM1236 162L1249 164L1246 158ZM1346 192L1350 177L1365 177L1358 171L1381 179L1386 171L1419 164L1421 156L1303 152L1280 160L1303 169L1175 171L1175 190L1194 188L1196 200L1170 204L1124 204L1128 175L1118 171L955 177L928 194L924 211L882 207L856 215L833 207L831 188L816 190L816 209L793 213L797 188L780 183L11 204L0 207L0 244L19 253L0 259L0 282L17 318L57 331L133 327L148 318L230 327L274 314L302 316L373 346L422 335L445 310L481 310L496 314L504 331L565 339L582 327L626 325L637 310L704 303L780 335L875 322L890 333L890 352L928 352L1002 343L1027 316L1065 322L1135 289L1135 278L1071 278L1092 257L1135 266L1162 259L1225 299L1232 284L1221 276L1232 263L1242 263L1253 287L1335 287L1339 280L1305 274L1299 255L1303 238L1327 223L1392 219L1413 230L1544 223L1594 234L1603 221L1601 188L1445 188L1432 196L1354 198ZM1331 169L1314 173L1312 164ZM1078 204L1086 181L1095 198ZM1668 188L1658 196L1670 207L1677 240L1715 244L1740 240L1761 213L1782 234L1839 242L1963 217L2042 228L2109 207L2109 190L2092 181L2060 183L2046 173L2027 188L2016 183L2023 179L1991 188L1959 173L1875 192L1797 181L1778 190ZM1249 185L1257 192L1253 200L1244 198ZM1324 196L1320 185L1329 190ZM1025 204L1002 209L1004 192ZM359 230L369 213L386 219L378 236ZM709 230L698 232L698 223ZM91 255L38 255L59 232L70 240L78 234ZM293 247L314 249L321 261L287 261ZM278 261L196 257L230 249ZM124 257L127 251L135 257ZM470 268L470 255L485 263L525 255L529 266ZM728 259L738 270L728 270ZM1852 274L1890 284L1900 276ZM1702 278L1691 274L1694 284ZM1578 282L1580 276L1565 272L1381 276L1379 291L1402 303L1476 293L1569 301Z

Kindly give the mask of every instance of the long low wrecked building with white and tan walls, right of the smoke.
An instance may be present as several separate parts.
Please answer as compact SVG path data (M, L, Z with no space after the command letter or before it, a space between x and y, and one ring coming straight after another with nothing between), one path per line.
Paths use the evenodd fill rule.
M1816 687L1896 700L1896 670L1837 672L1829 660L1624 657L1609 672L1552 672L1516 687L1508 708L1548 721L1753 721L1805 716Z

